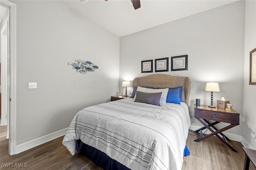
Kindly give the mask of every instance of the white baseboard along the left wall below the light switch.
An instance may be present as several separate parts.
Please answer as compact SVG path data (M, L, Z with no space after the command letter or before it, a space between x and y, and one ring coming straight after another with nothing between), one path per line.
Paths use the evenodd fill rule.
M33 139L32 141L28 141L28 142L22 143L20 145L17 145L15 154L18 154L20 152L24 152L25 150L34 148L38 145L42 145L43 143L46 143L46 142L49 142L53 139L61 137L61 136L66 134L67 130L68 130L68 127L65 128L65 129L62 129L60 131L56 131L54 133L51 133L49 135L45 135L45 136L39 137L37 139Z

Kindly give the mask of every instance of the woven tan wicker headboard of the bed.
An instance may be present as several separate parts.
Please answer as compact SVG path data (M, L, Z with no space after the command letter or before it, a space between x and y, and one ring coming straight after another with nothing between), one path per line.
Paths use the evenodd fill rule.
M189 77L152 74L150 76L134 78L132 87L134 88L134 86L149 86L154 88L176 88L183 86L183 101L188 106L191 88Z

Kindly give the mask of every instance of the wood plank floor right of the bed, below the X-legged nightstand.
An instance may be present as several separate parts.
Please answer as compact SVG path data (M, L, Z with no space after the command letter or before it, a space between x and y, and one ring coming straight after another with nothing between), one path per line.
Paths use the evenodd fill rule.
M200 142L195 139L200 137L199 133L189 132L186 144L190 150L190 156L184 156L182 170L243 170L245 154L243 145L237 141L229 144L238 152L233 152L216 136ZM249 170L256 170L250 164Z

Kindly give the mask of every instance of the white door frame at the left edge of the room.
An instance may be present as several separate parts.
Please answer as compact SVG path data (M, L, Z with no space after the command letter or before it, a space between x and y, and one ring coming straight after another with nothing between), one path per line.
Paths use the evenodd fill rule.
M10 112L9 112L9 155L16 154L16 4L1 0L0 4L9 8L10 28Z

